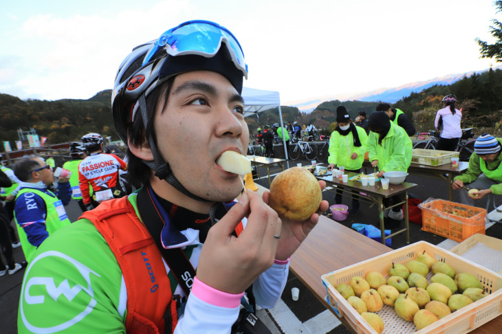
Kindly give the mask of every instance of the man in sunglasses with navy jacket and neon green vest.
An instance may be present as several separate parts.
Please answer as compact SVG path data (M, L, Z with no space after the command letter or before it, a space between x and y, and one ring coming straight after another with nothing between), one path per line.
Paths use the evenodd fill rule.
M59 178L56 194L47 190L54 182L54 172L41 157L23 157L14 164L14 173L21 181L14 205L14 221L25 258L30 262L36 248L50 234L69 225L63 205L72 199L72 188L68 178Z

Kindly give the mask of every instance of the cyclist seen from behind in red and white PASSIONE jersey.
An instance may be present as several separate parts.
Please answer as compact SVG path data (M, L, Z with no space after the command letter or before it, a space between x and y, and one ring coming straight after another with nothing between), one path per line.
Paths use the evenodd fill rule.
M103 153L103 137L88 133L82 137L89 156L78 165L78 182L85 205L96 207L102 201L120 198L127 194L120 181L119 170L127 170L127 164L114 154ZM91 197L89 187L94 190Z

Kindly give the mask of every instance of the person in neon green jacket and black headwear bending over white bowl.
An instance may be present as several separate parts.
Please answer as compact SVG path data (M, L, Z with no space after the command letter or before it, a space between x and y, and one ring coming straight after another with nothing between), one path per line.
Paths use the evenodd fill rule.
M386 113L371 113L368 120L369 161L373 168L379 169L377 177L382 177L384 172L406 172L411 164L413 144L401 126L397 126L389 119ZM399 201L399 197L391 197L391 203ZM404 218L399 206L386 212L389 218L401 221Z

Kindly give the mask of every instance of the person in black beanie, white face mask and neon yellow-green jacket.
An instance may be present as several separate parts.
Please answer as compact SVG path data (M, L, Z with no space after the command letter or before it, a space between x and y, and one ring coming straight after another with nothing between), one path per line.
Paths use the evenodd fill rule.
M359 126L353 124L347 109L343 106L336 108L335 131L329 139L328 170L335 165L344 166L347 172L360 172L364 153L367 151L368 135ZM335 203L342 203L342 190L337 188ZM359 211L359 197L353 195L349 214L357 214Z

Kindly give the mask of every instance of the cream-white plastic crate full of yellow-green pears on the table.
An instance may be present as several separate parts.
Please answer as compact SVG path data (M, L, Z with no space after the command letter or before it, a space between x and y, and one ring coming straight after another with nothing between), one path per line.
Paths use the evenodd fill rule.
M467 333L502 314L502 276L425 241L322 276L358 333Z

